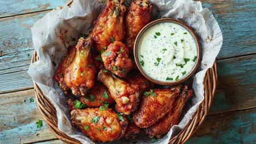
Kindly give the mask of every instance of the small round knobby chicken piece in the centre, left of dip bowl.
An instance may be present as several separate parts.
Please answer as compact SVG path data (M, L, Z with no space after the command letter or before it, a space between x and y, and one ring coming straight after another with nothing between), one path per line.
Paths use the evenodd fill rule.
M120 41L115 41L101 54L104 67L119 77L126 77L131 71L133 63L129 58L129 50Z

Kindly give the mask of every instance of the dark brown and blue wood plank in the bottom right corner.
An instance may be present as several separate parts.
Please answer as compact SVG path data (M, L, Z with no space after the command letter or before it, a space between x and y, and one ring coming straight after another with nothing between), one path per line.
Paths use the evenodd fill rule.
M187 143L256 143L256 109L210 115Z

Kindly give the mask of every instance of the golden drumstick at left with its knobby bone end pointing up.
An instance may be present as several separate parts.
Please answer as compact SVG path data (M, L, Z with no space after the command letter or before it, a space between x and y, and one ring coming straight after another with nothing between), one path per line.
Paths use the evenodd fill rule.
M88 89L94 86L96 67L91 56L91 46L91 38L80 38L75 46L75 57L65 70L65 83L77 97L85 96Z

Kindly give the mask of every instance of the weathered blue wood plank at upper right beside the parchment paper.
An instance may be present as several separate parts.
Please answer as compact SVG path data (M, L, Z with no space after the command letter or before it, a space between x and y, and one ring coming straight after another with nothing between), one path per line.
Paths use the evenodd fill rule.
M213 13L223 34L218 59L256 53L256 1L202 0Z

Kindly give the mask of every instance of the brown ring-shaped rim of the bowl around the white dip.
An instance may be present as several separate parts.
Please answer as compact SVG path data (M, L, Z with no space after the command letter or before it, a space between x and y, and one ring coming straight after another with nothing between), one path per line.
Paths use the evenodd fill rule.
M196 59L196 62L194 64L194 67L190 70L190 72L182 77L182 79L179 79L177 81L170 81L170 82L166 82L166 81L160 81L160 80L156 80L156 79L153 79L152 77L149 77L143 70L143 68L141 67L141 65L139 64L139 61L138 61L138 52L137 52L137 49L138 49L138 43L139 43L139 40L142 36L142 34L147 31L147 29L149 27L152 27L158 23L161 23L161 22L172 22L172 23L176 23L182 27L184 27L185 29L187 29L187 31L192 35L193 39L195 40L195 44L196 44L196 49L197 49L197 59ZM187 24L185 24L184 22L180 21L180 20L176 20L176 19L171 19L171 18L164 18L164 19L158 19L158 20L154 20L150 23L148 23L146 26L144 26L141 31L139 31L136 39L135 39L135 43L134 43L134 46L133 46L133 56L134 56L134 59L135 59L135 63L137 65L137 68L138 70L141 72L141 74L146 77L148 80L154 82L154 83L157 83L159 85L176 85L178 83L181 83L185 80L187 80L191 75L193 75L197 69L197 67L199 66L199 63L201 61L201 46L200 46L200 43L199 43L199 39L197 38L195 32L193 31L193 29L191 27L189 27Z

